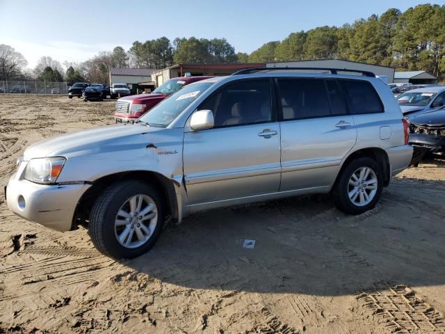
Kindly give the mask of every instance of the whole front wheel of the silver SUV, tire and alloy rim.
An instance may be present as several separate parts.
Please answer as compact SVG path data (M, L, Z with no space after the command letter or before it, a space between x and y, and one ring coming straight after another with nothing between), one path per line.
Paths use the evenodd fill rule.
M150 184L112 184L92 207L89 233L96 248L115 259L133 258L154 246L164 223L163 201Z

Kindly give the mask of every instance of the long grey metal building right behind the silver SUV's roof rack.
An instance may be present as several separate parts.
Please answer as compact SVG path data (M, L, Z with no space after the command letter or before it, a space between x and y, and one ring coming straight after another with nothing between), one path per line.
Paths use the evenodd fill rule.
M344 61L343 59L315 59L312 61L277 61L275 63L267 63L267 67L321 67L321 68L339 68L349 70L360 70L373 72L376 76L381 77L387 84L394 81L394 68L357 61Z

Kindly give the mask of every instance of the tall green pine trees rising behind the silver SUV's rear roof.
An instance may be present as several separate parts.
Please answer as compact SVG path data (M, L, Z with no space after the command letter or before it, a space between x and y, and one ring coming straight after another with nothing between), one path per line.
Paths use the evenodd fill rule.
M445 6L427 3L408 8L404 13L390 8L380 17L371 15L353 24L291 33L281 42L262 45L248 60L321 58L341 58L401 70L428 70L437 77L445 77Z

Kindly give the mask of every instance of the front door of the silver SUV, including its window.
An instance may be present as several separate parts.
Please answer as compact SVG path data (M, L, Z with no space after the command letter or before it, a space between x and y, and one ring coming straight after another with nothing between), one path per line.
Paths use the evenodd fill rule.
M223 86L198 110L215 126L184 134L184 177L191 205L257 196L280 188L280 125L270 79Z

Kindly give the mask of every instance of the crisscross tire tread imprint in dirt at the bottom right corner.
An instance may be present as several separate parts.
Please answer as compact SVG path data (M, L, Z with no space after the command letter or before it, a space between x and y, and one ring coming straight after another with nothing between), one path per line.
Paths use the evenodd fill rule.
M406 285L376 283L357 296L387 333L445 333L445 317Z

